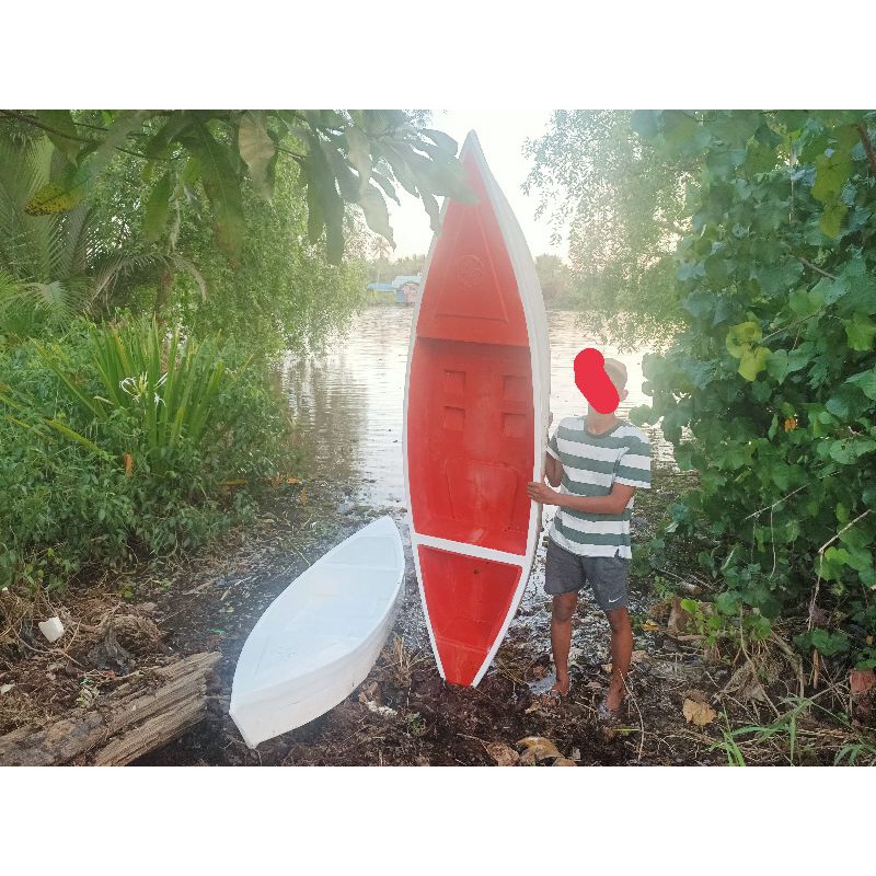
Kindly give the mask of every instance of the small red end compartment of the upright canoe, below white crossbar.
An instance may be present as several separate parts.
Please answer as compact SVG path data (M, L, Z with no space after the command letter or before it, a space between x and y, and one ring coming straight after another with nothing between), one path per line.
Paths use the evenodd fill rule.
M502 631L521 569L423 546L419 567L445 678L471 684Z

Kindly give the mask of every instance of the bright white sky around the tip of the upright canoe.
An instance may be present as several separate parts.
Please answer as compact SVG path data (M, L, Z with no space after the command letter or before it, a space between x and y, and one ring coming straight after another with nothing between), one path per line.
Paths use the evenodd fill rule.
M565 257L567 251L565 239L558 245L551 243L552 229L546 215L535 219L539 193L533 191L527 196L521 187L532 166L531 159L523 157L523 142L548 130L552 112L550 108L433 110L429 123L453 137L460 148L470 130L477 134L489 170L511 205L533 258L543 253ZM404 191L401 191L400 200L402 206L389 200L390 224L396 244L390 257L428 253L433 232L422 201Z

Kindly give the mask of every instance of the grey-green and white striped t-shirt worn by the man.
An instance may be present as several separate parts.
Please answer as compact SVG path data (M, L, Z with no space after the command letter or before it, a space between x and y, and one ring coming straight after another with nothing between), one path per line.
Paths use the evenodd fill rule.
M565 417L548 452L563 463L561 493L574 496L608 496L612 484L650 488L648 436L625 420L602 435L587 430L585 417ZM630 560L630 517L633 498L622 514L588 514L557 508L550 537L580 556L614 556Z

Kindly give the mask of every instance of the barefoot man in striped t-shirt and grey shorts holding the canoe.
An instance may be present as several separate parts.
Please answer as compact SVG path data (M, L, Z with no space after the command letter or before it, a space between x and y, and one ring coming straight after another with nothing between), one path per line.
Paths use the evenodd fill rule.
M626 368L606 359L604 371L623 401ZM586 417L565 417L548 445L545 476L551 486L528 486L533 502L557 506L544 569L544 590L553 597L551 648L556 667L550 695L558 700L568 693L572 618L578 591L589 584L611 626L611 683L601 710L610 716L616 716L623 703L633 653L626 610L633 496L636 487L650 487L648 437L619 419L615 411L599 413L590 404Z

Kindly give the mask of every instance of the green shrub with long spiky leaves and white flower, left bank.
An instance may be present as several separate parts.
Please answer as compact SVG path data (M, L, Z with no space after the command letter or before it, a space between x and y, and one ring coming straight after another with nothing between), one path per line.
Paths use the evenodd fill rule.
M59 586L247 519L293 459L266 371L142 321L0 354L0 585Z

